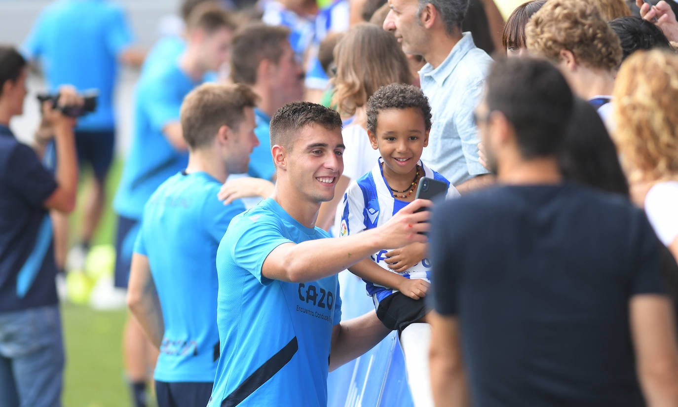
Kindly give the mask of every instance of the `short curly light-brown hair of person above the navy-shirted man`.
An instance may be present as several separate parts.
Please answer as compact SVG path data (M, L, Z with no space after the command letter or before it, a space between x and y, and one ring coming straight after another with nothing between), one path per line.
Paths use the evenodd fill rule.
M525 26L527 49L558 62L569 50L577 62L612 71L622 60L619 38L590 0L549 0Z

